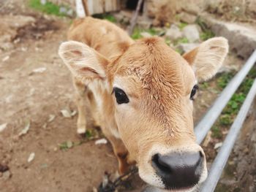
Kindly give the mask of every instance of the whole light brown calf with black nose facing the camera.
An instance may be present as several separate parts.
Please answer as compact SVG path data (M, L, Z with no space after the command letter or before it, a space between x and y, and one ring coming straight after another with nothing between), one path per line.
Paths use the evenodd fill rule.
M227 40L208 39L181 56L159 37L134 42L105 20L76 20L59 55L74 77L78 134L86 107L113 145L119 172L138 165L140 177L168 190L192 191L206 180L206 158L195 142L192 100L197 81L213 77Z

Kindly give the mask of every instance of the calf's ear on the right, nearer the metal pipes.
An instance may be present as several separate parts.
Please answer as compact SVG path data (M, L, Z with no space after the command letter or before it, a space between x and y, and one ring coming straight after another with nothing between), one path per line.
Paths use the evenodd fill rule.
M214 37L203 42L194 50L185 53L183 57L195 71L198 81L213 77L222 66L228 52L227 39Z

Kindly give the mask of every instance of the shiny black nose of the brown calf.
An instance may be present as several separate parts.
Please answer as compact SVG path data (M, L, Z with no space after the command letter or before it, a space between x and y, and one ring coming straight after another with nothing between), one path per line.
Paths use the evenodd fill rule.
M196 185L200 179L203 171L203 154L156 154L152 157L152 166L162 178L165 188L189 188Z

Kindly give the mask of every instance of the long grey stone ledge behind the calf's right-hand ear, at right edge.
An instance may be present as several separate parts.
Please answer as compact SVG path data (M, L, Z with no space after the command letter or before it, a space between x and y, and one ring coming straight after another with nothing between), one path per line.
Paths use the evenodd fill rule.
M249 58L256 49L256 31L253 28L215 20L209 16L204 16L203 20L214 34L227 38L230 50L238 56Z

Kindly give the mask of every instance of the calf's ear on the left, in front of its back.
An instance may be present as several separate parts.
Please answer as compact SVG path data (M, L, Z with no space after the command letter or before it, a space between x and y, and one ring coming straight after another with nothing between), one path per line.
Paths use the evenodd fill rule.
M106 77L108 59L81 42L62 43L59 55L72 74L80 80L104 80Z

